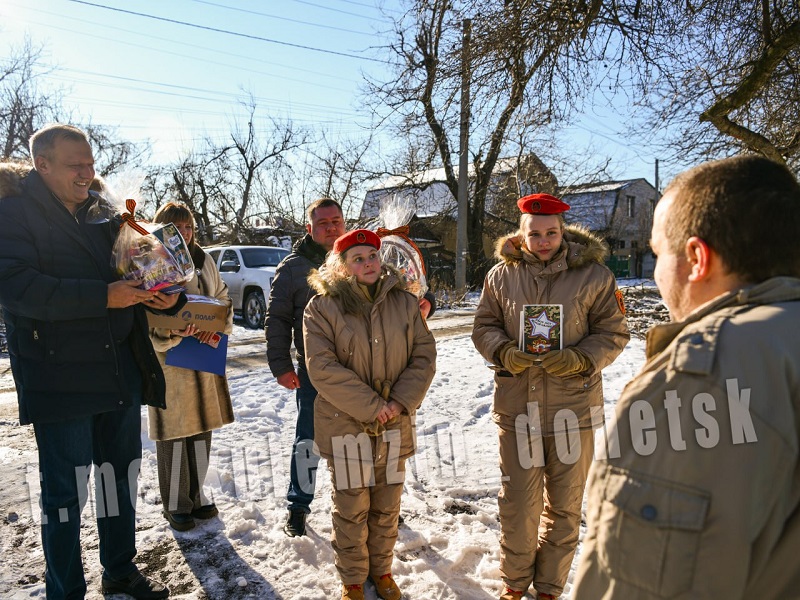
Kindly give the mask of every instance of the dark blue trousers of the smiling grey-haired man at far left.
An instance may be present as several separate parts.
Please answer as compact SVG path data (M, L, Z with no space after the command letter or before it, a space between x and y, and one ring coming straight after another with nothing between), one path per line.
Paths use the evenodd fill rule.
M112 579L136 570L136 493L142 458L139 398L131 408L33 427L41 472L47 598L83 598L81 510L94 464L100 563Z

